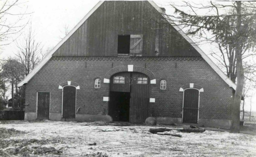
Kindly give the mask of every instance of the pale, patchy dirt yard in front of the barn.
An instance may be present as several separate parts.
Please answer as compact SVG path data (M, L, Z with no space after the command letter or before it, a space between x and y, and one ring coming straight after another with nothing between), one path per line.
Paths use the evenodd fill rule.
M0 121L0 156L255 156L255 134L227 131L157 135L130 123ZM109 129L104 132L103 129ZM218 129L215 129L218 130Z

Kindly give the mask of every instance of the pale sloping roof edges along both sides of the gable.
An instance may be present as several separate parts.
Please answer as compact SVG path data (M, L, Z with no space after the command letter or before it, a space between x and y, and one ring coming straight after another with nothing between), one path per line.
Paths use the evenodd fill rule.
M148 1L158 12L162 13L162 9L157 6L153 1ZM60 46L68 40L68 38L74 34L76 32L76 30L92 15L92 13L101 5L103 4L104 1L100 1L99 3L97 3L91 11L89 11L84 18L47 54L47 56L44 57L44 59L22 80L19 82L18 86L22 86L26 83L28 83L28 81L30 79L32 79L36 73L51 59L53 53L60 48ZM169 19L171 21L171 19L162 14L164 16L165 19ZM174 26L173 27L184 37L184 39L186 39L189 43L193 43L193 41L182 31L180 30L180 28L178 26ZM231 86L233 89L236 90L236 84L234 82L232 82L228 76L226 74L224 74L220 68L218 68L218 66L216 64L214 64L212 62L212 60L195 44L192 44L192 46L198 51L198 53L204 58L204 60L212 67L212 69L214 71L217 72L217 74L229 85Z

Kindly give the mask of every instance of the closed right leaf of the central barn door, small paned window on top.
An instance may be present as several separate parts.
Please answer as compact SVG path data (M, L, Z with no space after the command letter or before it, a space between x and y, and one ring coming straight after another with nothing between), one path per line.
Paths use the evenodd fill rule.
M130 122L144 123L148 117L150 82L147 75L132 72Z

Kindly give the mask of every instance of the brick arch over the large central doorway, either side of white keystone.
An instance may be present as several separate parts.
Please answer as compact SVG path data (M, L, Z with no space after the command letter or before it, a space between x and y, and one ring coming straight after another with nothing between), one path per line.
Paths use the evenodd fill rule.
M128 66L118 66L115 68L110 69L106 74L104 79L110 79L110 77L112 75L114 75L115 73L118 72L124 72L124 71L128 71ZM134 72L140 72L143 74L146 74L150 80L156 79L155 75L153 74L153 72L151 72L150 70L140 67L140 66L133 66L133 71Z

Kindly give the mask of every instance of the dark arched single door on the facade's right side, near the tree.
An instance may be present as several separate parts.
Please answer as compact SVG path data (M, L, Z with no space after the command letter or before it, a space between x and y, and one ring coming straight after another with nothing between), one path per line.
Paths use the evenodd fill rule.
M183 101L183 123L198 123L199 91L186 89Z

